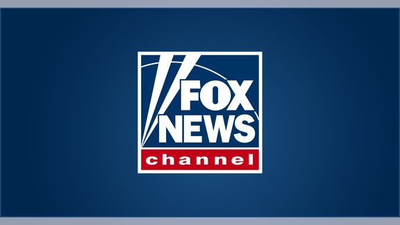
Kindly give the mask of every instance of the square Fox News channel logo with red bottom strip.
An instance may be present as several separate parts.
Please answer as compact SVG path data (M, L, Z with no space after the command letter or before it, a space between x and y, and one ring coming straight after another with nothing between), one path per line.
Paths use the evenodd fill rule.
M262 173L262 64L262 52L138 52L138 173Z

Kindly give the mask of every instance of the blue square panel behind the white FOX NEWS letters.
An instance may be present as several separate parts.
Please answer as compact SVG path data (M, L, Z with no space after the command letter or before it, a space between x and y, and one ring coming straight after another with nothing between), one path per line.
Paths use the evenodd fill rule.
M256 53L254 53L256 54ZM146 60L146 57L154 57L154 56L142 56ZM199 126L200 131L197 132L192 132L192 136L201 136L203 142L201 143L187 143L187 142L181 142L181 143L176 143L174 142L173 138L169 133L167 132L166 138L167 142L166 143L160 143L159 142L159 135L158 135L158 127L154 129L154 131L151 133L149 136L149 139L147 142L143 145L143 147L203 147L203 148L210 148L210 147L259 147L259 127L258 127L258 118L254 112L259 113L260 111L258 110L258 105L260 102L259 99L259 94L260 94L260 83L259 77L260 77L260 72L259 72L259 56L207 56L203 55L200 56L199 60L197 61L196 65L201 65L202 67L206 68L212 68L215 70L215 72L220 73L222 76L224 76L227 81L238 81L239 85L242 85L244 80L247 81L252 81L251 86L249 87L249 90L246 92L246 97L251 103L251 106L253 107L254 110L244 110L244 108L240 105L238 106L237 110L226 110L228 106L223 108L222 110L208 110L205 106L203 106L203 103L201 102L200 99L200 94L199 92L201 89L192 89L191 92L199 94L199 101L191 101L190 102L190 111L189 110L181 110L181 91L179 90L178 93L176 94L176 97L174 100L170 103L168 106L167 110L165 111L164 115L167 115L168 118L171 120L172 124L175 124L175 115L210 115L210 118L212 120L212 124L215 124L215 118L217 115L223 115L224 116L224 123L228 124L228 117L229 115L234 115L235 119L240 116L240 115L249 115L253 118L253 122L249 124L254 131L256 131L256 136L251 140L251 142L247 143L242 143L238 142L233 135L235 133L241 133L238 131L236 126L234 125L232 127L231 131L231 138L229 142L224 143L221 140L221 135L218 135L217 137L217 142L215 143L210 143L208 140L208 134L206 130L206 125L204 120L202 119L201 122L193 122L193 126ZM158 62L158 59L156 59L154 62ZM143 63L142 63L143 64ZM163 104L163 101L165 97L167 96L167 93L169 92L169 87L172 85L172 82L174 81L174 78L176 74L178 73L179 68L181 67L181 64L176 64L172 63L171 66L169 67L167 78L165 79L165 82L163 83L163 90L160 93L160 98L158 99L156 110L153 115L153 119L156 119L156 114L161 108L161 105ZM151 94L153 93L153 85L156 80L156 73L157 73L157 65L151 65L148 67L143 67L142 68L142 77L141 77L141 82L142 82L142 135L144 133L144 127L146 124L147 120L147 113L149 112L149 106L150 106L150 101L151 101ZM226 85L226 87L229 88L230 93L231 93L231 101L233 97L235 96L235 92L231 90L230 85L228 85L228 82L224 80L224 78L221 78L220 76L217 76L213 72L209 72L206 69L202 69L199 67L193 67L192 71L186 78L188 81L200 81L201 88L203 88L203 85L210 81L220 81ZM213 101L214 103L217 103L218 99L218 94L213 94ZM184 120L184 118L183 118ZM151 120L150 127L152 125L154 120ZM247 124L247 122L245 122ZM183 128L184 130L185 128ZM242 132L242 135L247 135L247 133ZM143 137L143 136L142 136Z

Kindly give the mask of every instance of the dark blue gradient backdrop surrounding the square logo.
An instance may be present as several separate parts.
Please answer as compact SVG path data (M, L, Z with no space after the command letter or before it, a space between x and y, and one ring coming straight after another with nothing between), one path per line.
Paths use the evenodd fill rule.
M399 10L1 10L1 215L399 215ZM137 174L138 51L263 51L263 174Z

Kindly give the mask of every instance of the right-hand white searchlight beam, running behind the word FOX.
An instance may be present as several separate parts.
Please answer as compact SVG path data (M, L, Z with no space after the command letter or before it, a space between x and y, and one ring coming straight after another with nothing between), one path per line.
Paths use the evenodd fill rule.
M175 79L172 82L171 88L169 88L167 96L165 97L164 102L161 105L157 115L165 113L165 110L167 110L169 104L172 102L172 100L174 100L174 97L181 88L181 80L184 80L185 78L188 77L194 65L196 65L197 60L199 60L200 56L201 55L199 53L189 53L185 56L181 68L179 68L178 73L176 74ZM144 139L142 146L144 145L144 143L146 143L147 139L149 139L149 136L153 132L154 128L156 128L157 124L158 124L158 118L156 118L153 122L153 125L151 125L150 131L147 134L146 139Z

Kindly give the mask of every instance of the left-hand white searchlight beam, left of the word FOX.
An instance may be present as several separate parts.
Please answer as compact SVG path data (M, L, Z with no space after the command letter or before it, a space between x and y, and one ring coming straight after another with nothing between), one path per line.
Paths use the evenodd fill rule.
M146 125L144 126L142 143L144 141L144 137L146 136L147 129L150 126L150 121L151 118L153 117L154 110L156 109L158 99L160 98L160 93L161 90L163 89L165 78L167 77L168 70L172 62L172 58L174 58L174 54L172 53L163 53L160 55L160 63L158 64L156 80L154 81L153 93L151 94L149 112L147 113Z

